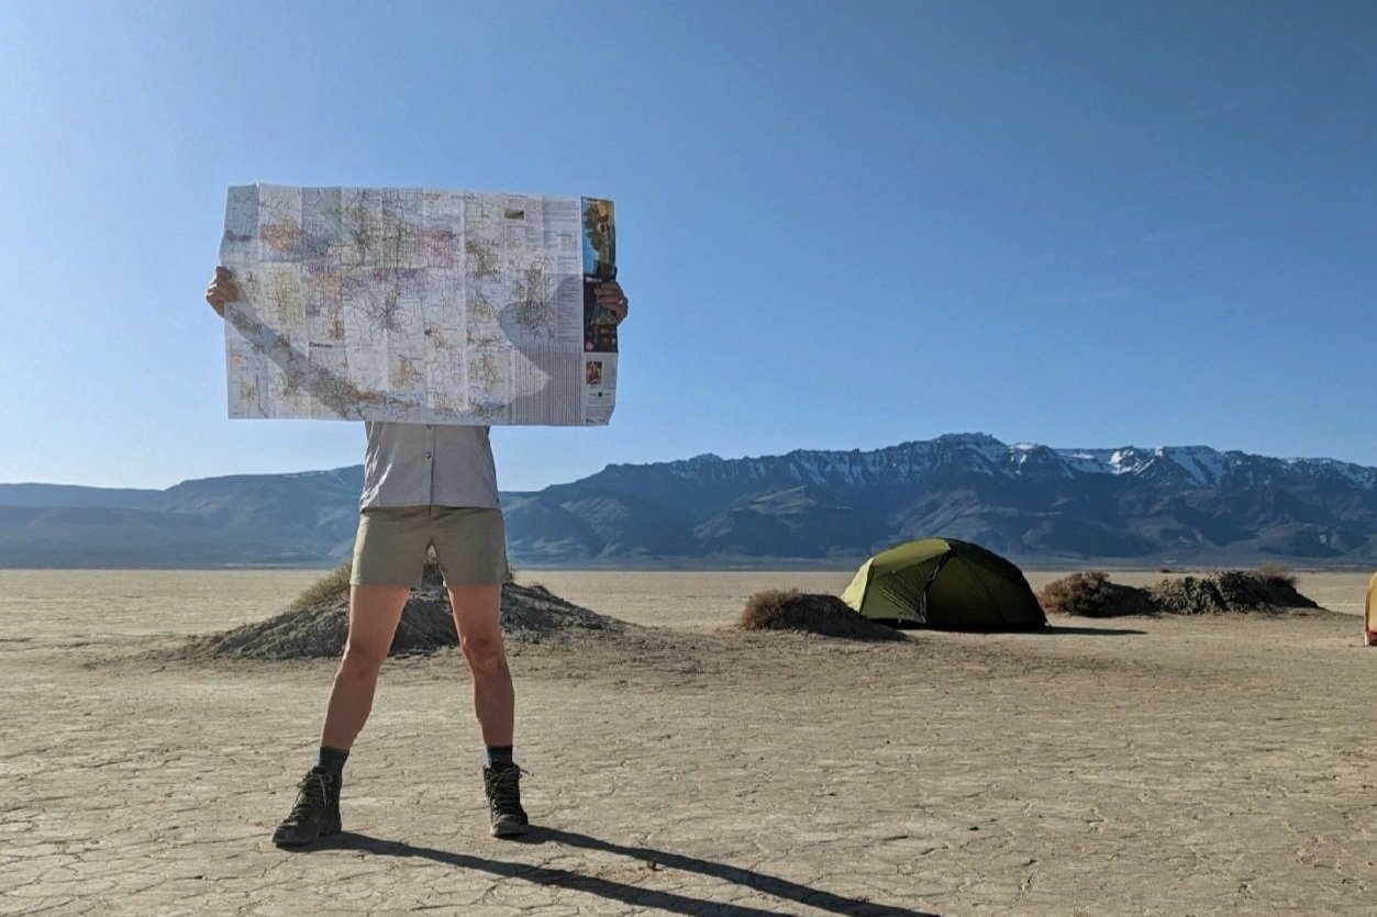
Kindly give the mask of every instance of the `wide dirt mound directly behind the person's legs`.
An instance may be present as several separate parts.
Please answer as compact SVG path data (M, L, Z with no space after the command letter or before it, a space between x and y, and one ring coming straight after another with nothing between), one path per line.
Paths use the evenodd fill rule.
M503 636L508 643L544 643L577 636L621 635L628 625L560 599L541 585L503 587ZM249 657L297 660L337 657L348 631L348 567L322 577L286 611L233 631L194 637L178 655L183 658ZM457 647L449 595L439 571L427 567L419 589L402 611L388 655L434 653Z

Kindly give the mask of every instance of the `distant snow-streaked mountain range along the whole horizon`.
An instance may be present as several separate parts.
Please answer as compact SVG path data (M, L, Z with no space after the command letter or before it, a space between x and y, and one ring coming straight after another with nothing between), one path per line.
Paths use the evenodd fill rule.
M362 467L164 492L0 485L0 566L333 565ZM1377 566L1377 468L979 434L873 452L609 465L503 494L518 567L847 566L932 534L1026 565Z

